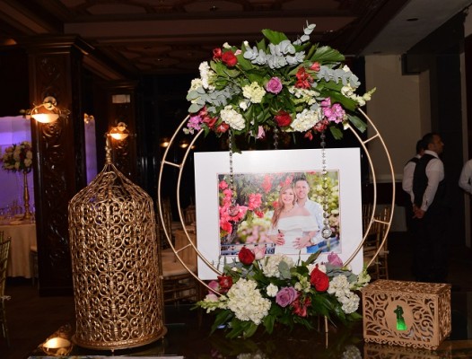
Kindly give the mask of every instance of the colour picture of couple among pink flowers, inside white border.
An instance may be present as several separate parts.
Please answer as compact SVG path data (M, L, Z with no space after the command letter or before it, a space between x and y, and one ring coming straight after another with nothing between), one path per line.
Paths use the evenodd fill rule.
M320 171L219 175L221 255L236 256L242 247L267 255L340 252L338 172L328 171L326 188ZM234 192L234 193L233 193ZM322 236L323 207L332 232Z

